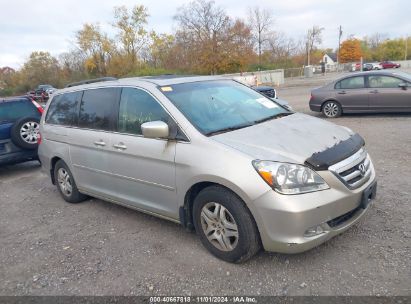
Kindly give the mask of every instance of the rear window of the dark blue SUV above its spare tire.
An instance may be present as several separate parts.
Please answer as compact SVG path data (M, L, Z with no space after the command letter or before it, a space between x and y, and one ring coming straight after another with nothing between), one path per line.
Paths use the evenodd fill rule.
M0 121L14 122L23 117L40 117L40 113L28 99L0 102Z

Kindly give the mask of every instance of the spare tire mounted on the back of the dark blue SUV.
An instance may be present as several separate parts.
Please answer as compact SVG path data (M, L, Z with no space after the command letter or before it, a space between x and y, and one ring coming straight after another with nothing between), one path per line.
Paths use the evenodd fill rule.
M37 149L39 126L40 120L36 117L25 117L17 120L11 127L12 142L22 149Z

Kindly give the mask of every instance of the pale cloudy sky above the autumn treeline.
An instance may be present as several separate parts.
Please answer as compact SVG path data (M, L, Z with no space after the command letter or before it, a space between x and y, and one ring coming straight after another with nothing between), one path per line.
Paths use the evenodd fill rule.
M0 67L20 69L33 51L53 56L75 47L75 33L84 23L100 23L113 32L113 7L148 8L148 29L173 33L173 16L188 0L0 0ZM321 47L342 40L380 33L389 38L411 36L409 0L216 0L230 17L246 18L254 6L272 11L273 30L299 40L313 25L324 28Z

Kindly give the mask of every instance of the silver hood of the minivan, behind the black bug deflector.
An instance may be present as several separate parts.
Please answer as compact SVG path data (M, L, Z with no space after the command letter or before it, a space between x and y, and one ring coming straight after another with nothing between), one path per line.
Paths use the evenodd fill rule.
M254 159L303 164L313 154L347 140L348 128L295 113L251 127L212 136L211 139Z

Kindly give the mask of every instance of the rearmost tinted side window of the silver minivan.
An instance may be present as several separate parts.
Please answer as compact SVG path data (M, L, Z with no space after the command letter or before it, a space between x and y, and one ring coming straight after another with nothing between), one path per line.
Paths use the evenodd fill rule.
M77 125L78 103L83 92L66 93L53 98L47 111L46 123Z

